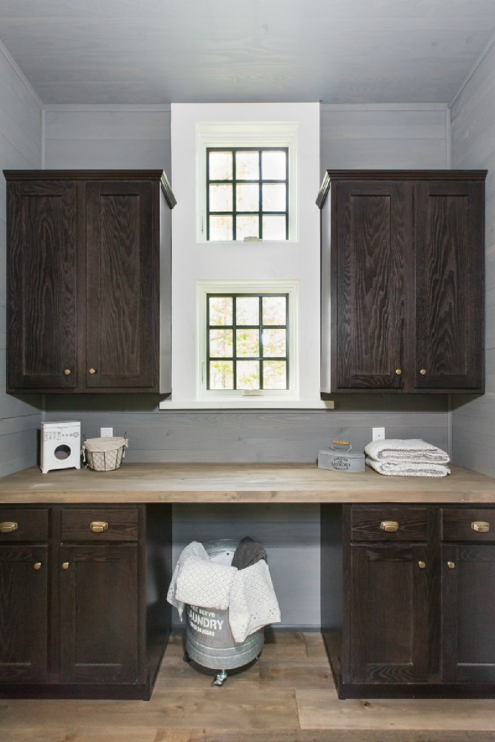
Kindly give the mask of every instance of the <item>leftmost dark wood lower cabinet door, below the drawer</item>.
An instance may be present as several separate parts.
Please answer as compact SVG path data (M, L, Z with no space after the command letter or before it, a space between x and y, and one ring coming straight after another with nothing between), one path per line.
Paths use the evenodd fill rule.
M47 607L47 546L0 545L0 680L45 680Z

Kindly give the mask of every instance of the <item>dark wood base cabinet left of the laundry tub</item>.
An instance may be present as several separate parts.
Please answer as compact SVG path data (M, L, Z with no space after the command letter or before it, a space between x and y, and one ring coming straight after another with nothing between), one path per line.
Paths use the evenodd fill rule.
M170 505L0 506L0 697L148 699Z

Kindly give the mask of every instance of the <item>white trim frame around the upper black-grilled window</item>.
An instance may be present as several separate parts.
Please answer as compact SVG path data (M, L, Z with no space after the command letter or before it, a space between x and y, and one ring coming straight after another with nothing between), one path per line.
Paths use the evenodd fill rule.
M299 239L299 179L297 122L201 122L196 124L196 241L235 245L235 240L206 240L206 148L288 147L289 148L289 240ZM266 240L273 243L274 240ZM238 243L237 243L238 244Z

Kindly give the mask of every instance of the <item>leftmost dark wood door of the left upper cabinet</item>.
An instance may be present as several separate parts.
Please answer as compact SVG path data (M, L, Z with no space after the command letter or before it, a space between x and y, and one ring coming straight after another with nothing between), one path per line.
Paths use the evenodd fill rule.
M7 391L76 387L76 185L8 185Z

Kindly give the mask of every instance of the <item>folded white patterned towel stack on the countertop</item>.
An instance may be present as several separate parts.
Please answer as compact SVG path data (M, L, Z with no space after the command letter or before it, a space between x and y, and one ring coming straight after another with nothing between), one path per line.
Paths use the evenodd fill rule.
M385 439L364 447L366 463L380 474L447 476L448 453L422 439Z

